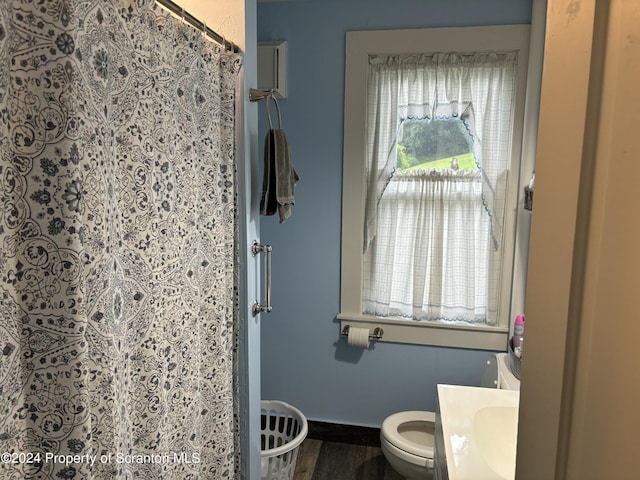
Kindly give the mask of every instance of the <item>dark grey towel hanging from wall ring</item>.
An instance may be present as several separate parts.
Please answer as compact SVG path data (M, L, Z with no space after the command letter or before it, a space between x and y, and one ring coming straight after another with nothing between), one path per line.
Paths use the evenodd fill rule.
M269 105L273 100L278 111L278 128L273 128ZM280 216L280 223L291 215L291 206L295 203L294 188L300 177L293 168L291 151L287 136L282 130L282 117L278 100L269 93L267 96L267 118L269 132L264 141L264 176L262 179L261 215Z

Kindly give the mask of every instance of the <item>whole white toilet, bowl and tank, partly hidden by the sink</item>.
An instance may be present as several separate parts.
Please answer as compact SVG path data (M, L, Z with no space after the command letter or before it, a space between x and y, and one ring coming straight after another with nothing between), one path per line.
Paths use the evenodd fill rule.
M520 380L511 373L506 353L489 356L481 385L489 388L520 389ZM393 469L407 480L433 478L435 423L435 413L422 411L394 413L382 423L382 453Z

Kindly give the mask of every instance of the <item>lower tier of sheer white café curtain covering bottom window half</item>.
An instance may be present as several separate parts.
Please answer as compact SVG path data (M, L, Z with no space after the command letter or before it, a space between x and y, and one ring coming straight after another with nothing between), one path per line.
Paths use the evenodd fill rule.
M417 320L486 318L489 221L478 172L397 173L366 253L365 311Z

